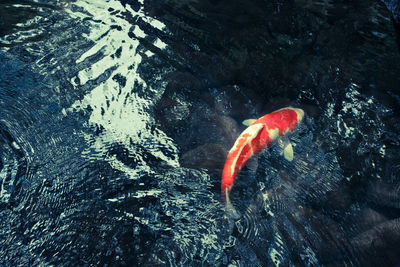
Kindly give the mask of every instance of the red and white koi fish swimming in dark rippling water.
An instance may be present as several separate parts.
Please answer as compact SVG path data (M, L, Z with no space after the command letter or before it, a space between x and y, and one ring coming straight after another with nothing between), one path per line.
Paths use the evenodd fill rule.
M292 132L304 117L304 111L299 108L282 108L269 113L257 120L243 122L249 127L236 139L228 153L222 172L221 189L225 196L226 207L233 215L237 215L229 200L229 192L235 182L235 177L251 156L258 154L266 146L270 147L277 138ZM283 155L288 161L293 160L293 147L288 140L284 142Z

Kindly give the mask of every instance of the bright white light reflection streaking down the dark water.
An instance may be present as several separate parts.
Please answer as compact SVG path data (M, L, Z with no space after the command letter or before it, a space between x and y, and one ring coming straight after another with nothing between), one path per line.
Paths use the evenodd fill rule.
M110 144L123 145L129 150L130 155L137 153L132 144L143 145L156 158L170 166L179 166L177 148L172 139L158 129L150 131L153 118L149 114L149 109L162 95L163 86L161 83L160 88L152 88L138 73L138 67L142 62L138 47L140 39L145 38L147 34L138 25L128 22L122 14L129 13L134 19L140 18L159 30L163 30L165 25L147 17L143 7L134 11L129 4L123 6L114 0L77 1L72 5L74 10L80 12L72 9L67 11L77 19L88 19L91 27L90 33L85 37L94 43L89 50L82 53L76 64L89 62L93 58L97 61L87 64L88 67L80 70L76 77L71 79L75 88L85 86L89 82L95 82L96 85L83 99L76 101L69 111L90 110L89 126L104 129L96 137L85 134L91 147L84 154L87 157L106 157L113 168L129 174L132 179L137 178L138 171L150 173L150 166L141 157L135 157L139 161L137 169L126 166L115 156L106 155ZM110 10L114 15L110 15ZM134 36L129 35L130 32ZM154 45L160 49L166 48L166 44L158 38L155 39ZM148 57L154 55L148 52L144 54ZM103 79L103 76L107 78ZM123 82L119 82L116 77L122 77ZM102 81L96 83L98 80ZM139 96L138 91L144 91L149 97ZM169 156L162 151L167 151Z

